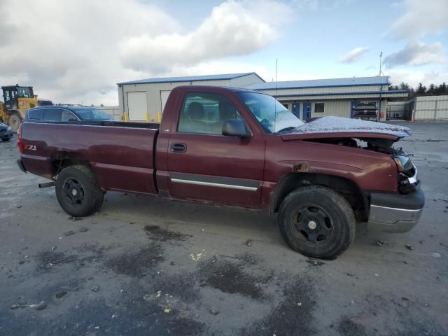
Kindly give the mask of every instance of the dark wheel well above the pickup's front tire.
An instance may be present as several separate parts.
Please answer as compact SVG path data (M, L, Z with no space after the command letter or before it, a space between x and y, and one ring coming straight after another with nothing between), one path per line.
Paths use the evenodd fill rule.
M340 176L315 173L291 173L284 176L276 185L269 206L269 214L279 211L285 197L302 186L324 186L334 190L349 202L357 221L367 221L369 209L367 195L357 183Z

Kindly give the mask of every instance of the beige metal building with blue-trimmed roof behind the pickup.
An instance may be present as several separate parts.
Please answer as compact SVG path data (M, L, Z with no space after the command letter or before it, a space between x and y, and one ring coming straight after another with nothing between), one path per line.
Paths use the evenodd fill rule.
M388 77L353 77L318 80L291 80L266 83L256 73L210 76L150 78L118 83L120 109L126 120L158 122L169 92L179 85L245 87L270 94L298 118L317 116L351 118L360 102L373 102L386 119L386 104L404 99L407 90L388 90Z

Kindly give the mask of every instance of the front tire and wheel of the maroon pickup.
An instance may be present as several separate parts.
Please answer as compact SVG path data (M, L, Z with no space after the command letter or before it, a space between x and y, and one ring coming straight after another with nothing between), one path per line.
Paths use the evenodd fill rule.
M336 258L356 234L350 204L321 186L305 186L286 196L279 209L279 226L290 248L313 258Z

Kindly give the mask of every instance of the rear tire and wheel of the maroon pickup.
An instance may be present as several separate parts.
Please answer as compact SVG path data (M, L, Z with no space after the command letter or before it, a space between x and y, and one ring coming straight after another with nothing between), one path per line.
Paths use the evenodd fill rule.
M104 200L92 170L83 165L62 169L56 179L56 196L62 209L73 217L94 214Z

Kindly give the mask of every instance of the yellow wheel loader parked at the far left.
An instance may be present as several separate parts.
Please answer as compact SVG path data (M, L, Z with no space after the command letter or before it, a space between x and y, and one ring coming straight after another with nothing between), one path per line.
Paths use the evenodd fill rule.
M52 105L50 100L37 99L32 86L2 86L3 102L0 100L0 123L10 125L17 132L28 109L39 105Z

